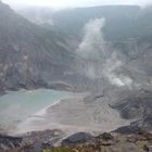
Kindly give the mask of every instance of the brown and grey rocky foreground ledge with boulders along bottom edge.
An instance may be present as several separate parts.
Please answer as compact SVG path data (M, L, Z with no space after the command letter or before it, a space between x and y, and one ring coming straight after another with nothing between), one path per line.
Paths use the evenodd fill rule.
M38 132L37 132L38 134ZM66 140L66 143L64 142ZM138 134L121 135L104 132L97 137L87 132L78 132L63 140L65 144L54 147L49 142L35 142L29 148L22 145L17 149L12 149L9 152L151 152L152 151L152 135L147 131ZM25 149L24 149L25 148Z

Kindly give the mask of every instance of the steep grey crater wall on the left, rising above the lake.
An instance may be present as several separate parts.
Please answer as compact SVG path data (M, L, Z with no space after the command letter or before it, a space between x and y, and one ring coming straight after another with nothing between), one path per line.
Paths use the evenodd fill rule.
M41 29L0 2L0 86L48 87L69 69L73 53L55 33Z

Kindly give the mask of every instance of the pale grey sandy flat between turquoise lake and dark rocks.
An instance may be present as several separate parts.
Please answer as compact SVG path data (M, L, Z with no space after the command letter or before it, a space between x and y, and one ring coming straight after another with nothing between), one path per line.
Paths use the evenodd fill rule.
M84 100L88 94L77 93L40 113L33 115L18 125L17 132L31 130L61 129L65 132L77 131L111 131L130 122L121 118L119 113L109 106L102 98L96 101Z

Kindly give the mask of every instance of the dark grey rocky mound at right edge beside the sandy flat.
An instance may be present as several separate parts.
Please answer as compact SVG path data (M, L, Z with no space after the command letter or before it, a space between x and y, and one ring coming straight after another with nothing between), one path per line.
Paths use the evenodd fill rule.
M131 92L130 92L131 91ZM152 129L152 92L151 90L126 91L126 96L113 107L126 119L137 119L129 128Z

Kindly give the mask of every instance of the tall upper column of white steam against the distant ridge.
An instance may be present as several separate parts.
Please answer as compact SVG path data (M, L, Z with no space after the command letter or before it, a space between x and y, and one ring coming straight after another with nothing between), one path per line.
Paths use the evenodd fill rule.
M77 50L83 58L87 60L100 60L101 50L103 51L104 49L104 39L101 30L104 24L104 18L94 18L85 25L85 36Z

